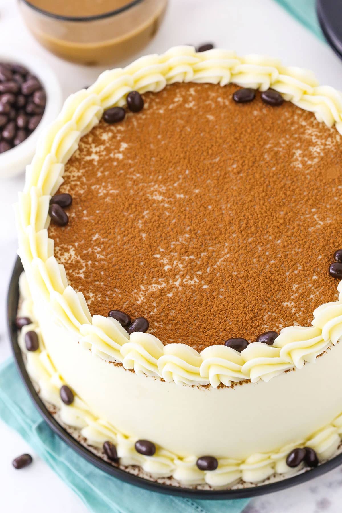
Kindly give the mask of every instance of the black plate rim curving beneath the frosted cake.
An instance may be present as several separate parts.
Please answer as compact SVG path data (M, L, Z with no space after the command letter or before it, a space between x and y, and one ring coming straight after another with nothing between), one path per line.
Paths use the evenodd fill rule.
M276 483L264 484L256 487L243 488L238 490L196 490L169 486L165 484L148 481L147 479L140 478L138 476L133 476L131 473L126 472L121 468L114 467L110 463L107 463L102 458L99 458L98 456L94 455L94 453L92 453L86 447L78 443L71 435L69 435L69 433L60 424L58 424L58 422L48 411L42 400L39 398L37 392L35 391L31 383L31 380L28 376L28 373L24 365L22 352L18 346L17 330L14 324L19 297L18 280L19 275L22 271L23 266L20 259L18 258L14 265L7 299L8 331L17 369L31 396L31 399L34 402L35 407L42 414L42 416L49 424L51 429L55 433L57 433L57 435L61 437L62 440L64 440L64 442L66 442L70 447L72 447L80 456L93 463L96 467L100 468L101 470L104 470L105 472L111 474L112 476L115 476L118 479L127 481L128 483L131 483L135 486L140 486L148 490L157 491L161 494L170 494L180 497L189 497L193 499L222 500L255 497L258 495L269 494L273 491L283 490L284 488L289 488L290 486L294 486L300 483L304 483L305 481L309 481L310 479L320 476L326 472L329 472L329 470L332 470L333 468L342 464L342 454L340 454L338 456L335 456L335 458L332 458L331 460L327 461L326 463L319 465L316 468L308 470L304 473L300 473L297 476L292 476L287 479L283 479Z

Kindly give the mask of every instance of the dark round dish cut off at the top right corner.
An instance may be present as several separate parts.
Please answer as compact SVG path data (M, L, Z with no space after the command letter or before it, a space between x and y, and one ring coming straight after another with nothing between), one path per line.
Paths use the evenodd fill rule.
M342 58L342 0L317 0L317 15L326 40Z

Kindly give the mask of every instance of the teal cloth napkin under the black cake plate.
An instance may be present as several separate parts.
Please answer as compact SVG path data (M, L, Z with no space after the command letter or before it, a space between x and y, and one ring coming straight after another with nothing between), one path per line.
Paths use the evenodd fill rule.
M12 358L0 365L0 419L15 429L94 513L240 513L248 499L191 500L144 490L88 463L36 410Z

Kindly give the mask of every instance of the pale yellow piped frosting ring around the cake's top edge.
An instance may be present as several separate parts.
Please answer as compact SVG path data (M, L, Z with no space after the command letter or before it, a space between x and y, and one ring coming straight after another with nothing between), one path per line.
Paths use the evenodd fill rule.
M271 87L285 100L313 112L319 122L335 125L342 134L342 94L319 86L310 71L284 67L270 57L238 57L218 49L196 53L189 46L139 58L124 69L105 71L87 90L69 96L61 114L39 139L26 169L24 192L15 206L18 254L29 283L39 289L56 322L74 332L77 341L98 357L122 363L136 373L187 385L268 382L280 372L314 362L337 343L342 336L342 282L337 287L338 301L316 308L312 326L282 329L273 346L255 342L239 353L212 345L198 353L186 344L164 346L150 333L129 336L116 320L91 317L84 295L68 285L65 268L53 255L54 243L48 238L49 202L63 183L64 166L79 139L99 122L105 109L125 105L130 91L158 92L174 82L234 83L260 91Z

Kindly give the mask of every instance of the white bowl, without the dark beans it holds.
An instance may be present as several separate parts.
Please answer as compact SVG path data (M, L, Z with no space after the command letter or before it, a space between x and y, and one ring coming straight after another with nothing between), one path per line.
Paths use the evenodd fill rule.
M25 171L35 152L39 135L59 114L62 107L62 90L58 78L46 62L23 53L20 49L0 49L0 62L22 64L35 74L45 89L47 101L41 122L25 141L11 150L0 153L0 179Z

